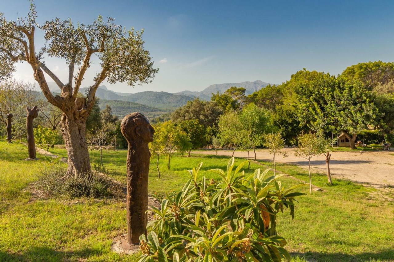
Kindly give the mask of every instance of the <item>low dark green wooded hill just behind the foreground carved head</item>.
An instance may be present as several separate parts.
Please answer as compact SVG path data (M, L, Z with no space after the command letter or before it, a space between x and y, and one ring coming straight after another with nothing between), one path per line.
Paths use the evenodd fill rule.
M130 114L133 112L139 112L145 115L148 119L156 118L158 116L161 116L162 114L167 113L167 111L163 111L155 107L122 100L100 99L99 105L100 109L104 109L106 105L109 105L112 109L112 113L116 116L119 116L120 119L123 118L126 114Z

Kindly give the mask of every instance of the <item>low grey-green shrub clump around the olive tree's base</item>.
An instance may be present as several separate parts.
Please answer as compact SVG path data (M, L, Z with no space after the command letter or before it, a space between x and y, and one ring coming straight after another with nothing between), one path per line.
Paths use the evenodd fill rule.
M58 197L124 197L119 184L97 172L65 178L66 171L54 165L41 170L36 187Z

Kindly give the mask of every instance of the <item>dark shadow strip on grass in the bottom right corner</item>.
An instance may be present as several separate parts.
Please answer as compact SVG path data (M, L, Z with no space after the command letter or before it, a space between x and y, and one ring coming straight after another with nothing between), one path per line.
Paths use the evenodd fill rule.
M392 261L394 258L394 249L385 249L377 253L360 253L356 255L349 255L344 253L318 253L318 252L306 252L306 253L290 253L292 258L296 261L326 261L326 262L337 262L337 261ZM298 259L297 259L298 258Z

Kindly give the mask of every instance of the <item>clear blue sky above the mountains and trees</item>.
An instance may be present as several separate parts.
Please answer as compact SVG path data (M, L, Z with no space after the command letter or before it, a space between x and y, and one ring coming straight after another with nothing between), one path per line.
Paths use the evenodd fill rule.
M119 92L203 90L214 83L282 83L302 68L339 74L365 61L394 61L394 1L53 1L37 0L38 21L98 15L136 30L160 70L150 84ZM28 1L0 0L6 18L25 15ZM38 41L38 40L37 40ZM46 59L61 79L67 66ZM89 68L83 85L92 83ZM28 65L15 77L33 81Z

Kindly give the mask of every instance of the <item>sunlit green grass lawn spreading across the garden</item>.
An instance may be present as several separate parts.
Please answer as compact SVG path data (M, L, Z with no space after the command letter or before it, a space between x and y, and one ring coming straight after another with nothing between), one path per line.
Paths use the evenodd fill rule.
M50 152L66 157L64 148ZM104 166L113 178L126 181L126 151L104 152ZM214 153L214 152L213 152ZM137 255L117 255L110 251L115 236L126 232L125 203L117 199L31 200L26 192L37 180L39 169L49 165L45 157L24 161L25 146L0 141L0 261L135 261ZM167 170L167 159L160 160L161 179L156 161L151 162L149 194L164 196L180 190L188 180L186 170L203 162L202 171L225 169L228 157L176 155ZM91 162L98 163L99 152L91 151ZM243 159L237 159L237 164ZM65 165L64 163L58 163ZM271 163L251 164L251 170ZM308 180L297 166L279 164L278 170ZM217 178L206 172L208 178ZM289 177L282 184L295 185ZM346 180L334 179L328 186L323 174L313 174L312 183L323 192L298 198L296 214L288 211L278 218L279 235L294 261L392 261L394 259L394 204L374 197L375 189ZM301 191L307 193L308 187ZM85 260L84 260L85 261Z

